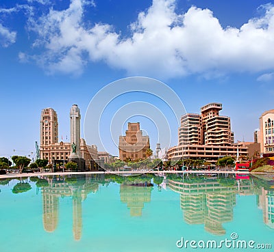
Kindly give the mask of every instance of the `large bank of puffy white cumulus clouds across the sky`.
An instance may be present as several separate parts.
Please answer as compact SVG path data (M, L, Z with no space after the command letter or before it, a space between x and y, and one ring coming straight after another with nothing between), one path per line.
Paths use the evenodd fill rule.
M128 74L162 78L274 70L274 5L262 6L262 16L238 29L222 27L211 10L192 6L178 14L175 0L154 0L123 37L112 25L86 27L88 3L71 0L66 10L29 19L34 46L44 50L35 55L43 68L81 73L89 61L105 61Z

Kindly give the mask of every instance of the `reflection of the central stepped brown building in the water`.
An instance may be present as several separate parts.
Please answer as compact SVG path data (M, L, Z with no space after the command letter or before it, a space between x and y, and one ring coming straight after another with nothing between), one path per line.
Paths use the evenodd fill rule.
M151 201L151 182L138 184L121 184L120 197L121 202L127 204L130 210L130 216L142 216L142 208L145 203Z

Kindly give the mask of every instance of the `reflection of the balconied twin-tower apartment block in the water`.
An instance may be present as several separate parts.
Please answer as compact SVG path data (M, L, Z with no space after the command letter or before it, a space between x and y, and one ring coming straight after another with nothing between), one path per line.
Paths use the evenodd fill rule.
M180 194L184 221L190 225L203 224L207 232L225 234L223 223L233 220L236 194L250 194L249 182L237 183L232 178L168 179L171 190Z

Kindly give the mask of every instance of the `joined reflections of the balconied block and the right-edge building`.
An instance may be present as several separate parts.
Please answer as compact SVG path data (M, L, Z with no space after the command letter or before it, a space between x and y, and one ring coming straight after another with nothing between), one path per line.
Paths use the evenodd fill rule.
M264 223L274 228L273 182L268 176L236 179L197 174L171 175L166 179L166 185L180 194L184 221L190 225L203 224L204 229L214 235L225 234L223 223L233 220L236 194L258 195Z

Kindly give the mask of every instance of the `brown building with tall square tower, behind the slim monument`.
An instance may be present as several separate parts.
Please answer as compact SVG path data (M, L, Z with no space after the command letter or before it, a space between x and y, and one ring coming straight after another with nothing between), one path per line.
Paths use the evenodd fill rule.
M75 105L73 105L73 108L75 108ZM77 118L80 119L81 115L78 114L78 116ZM80 122L76 123L79 129ZM76 124L75 126L77 127ZM84 158L86 169L89 169L90 161L98 159L97 146L87 145L84 139L79 139L78 141L77 136L80 136L79 130L71 131L74 131L73 137L75 139L73 141L79 142L76 144L76 153L78 152L79 158ZM75 133L75 131L77 132ZM58 141L58 115L54 109L42 109L40 117L40 158L49 160L50 164L58 161L65 163L71 156L71 144L71 142Z

